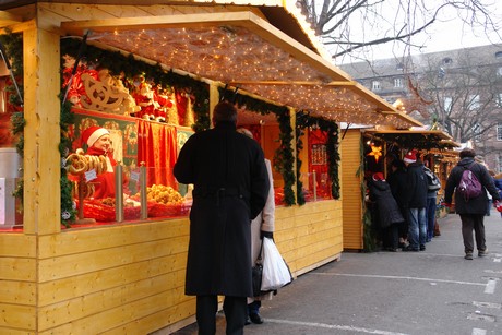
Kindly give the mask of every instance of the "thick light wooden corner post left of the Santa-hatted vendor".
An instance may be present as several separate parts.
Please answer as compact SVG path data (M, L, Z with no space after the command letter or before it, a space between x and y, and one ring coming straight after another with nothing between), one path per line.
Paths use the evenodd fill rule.
M61 230L59 35L40 28L23 34L24 234Z

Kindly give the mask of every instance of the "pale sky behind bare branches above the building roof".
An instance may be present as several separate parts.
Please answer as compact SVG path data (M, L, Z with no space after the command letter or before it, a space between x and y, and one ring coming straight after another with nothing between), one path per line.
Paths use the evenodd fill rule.
M351 55L358 49L375 45L399 43L409 48L421 48L423 41L414 37L427 34L427 28L446 20L446 10L454 11L469 28L481 27L495 33L497 0L298 0L297 4L312 23L326 46L332 46L333 58Z

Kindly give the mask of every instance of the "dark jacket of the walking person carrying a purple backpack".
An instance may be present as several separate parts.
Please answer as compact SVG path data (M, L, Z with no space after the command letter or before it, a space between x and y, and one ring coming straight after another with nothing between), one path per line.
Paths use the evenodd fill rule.
M462 174L467 166L470 167L470 170L478 178L481 186L490 192L493 201L500 200L500 195L493 183L493 178L488 174L487 168L481 164L475 163L473 157L464 157L457 163L447 177L446 188L444 189L444 202L452 203L453 192L461 182ZM486 214L487 203L487 192L481 192L479 196L469 199L468 201L465 201L464 196L461 194L455 193L455 212L457 214Z

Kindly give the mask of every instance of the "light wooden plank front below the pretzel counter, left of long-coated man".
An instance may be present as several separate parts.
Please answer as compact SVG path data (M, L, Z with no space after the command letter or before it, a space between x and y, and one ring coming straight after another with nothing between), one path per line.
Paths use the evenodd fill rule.
M188 218L39 239L38 334L146 334L195 311Z

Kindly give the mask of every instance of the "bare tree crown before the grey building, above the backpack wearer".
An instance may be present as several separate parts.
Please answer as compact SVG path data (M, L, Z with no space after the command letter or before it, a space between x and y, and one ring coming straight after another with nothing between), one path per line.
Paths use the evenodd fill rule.
M441 53L422 57L416 82L428 105L430 118L450 133L455 141L474 141L478 146L493 140L493 129L500 118L502 92L500 64L493 53L473 55L471 49L459 50L456 57L437 58Z

